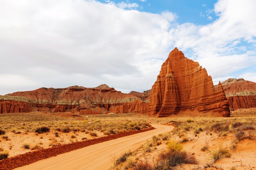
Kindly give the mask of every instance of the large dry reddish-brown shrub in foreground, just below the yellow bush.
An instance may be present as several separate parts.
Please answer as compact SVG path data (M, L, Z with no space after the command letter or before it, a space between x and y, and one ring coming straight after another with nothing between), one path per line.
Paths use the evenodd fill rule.
M177 166L183 163L197 163L195 157L186 151L166 150L158 155L159 169Z

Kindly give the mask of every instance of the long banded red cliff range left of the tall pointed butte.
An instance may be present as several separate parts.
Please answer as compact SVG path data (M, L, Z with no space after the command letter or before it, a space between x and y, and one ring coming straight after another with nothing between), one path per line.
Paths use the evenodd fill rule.
M83 110L82 114L146 113L149 93L150 91L121 93L106 84L95 88L82 86L39 88L0 96L0 106L4 108L1 113L80 112L80 110Z

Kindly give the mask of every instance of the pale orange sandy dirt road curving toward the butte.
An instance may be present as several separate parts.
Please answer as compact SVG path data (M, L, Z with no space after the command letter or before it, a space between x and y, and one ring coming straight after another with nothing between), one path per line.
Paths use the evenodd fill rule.
M73 150L15 170L107 170L112 157L135 150L153 135L169 132L172 126L152 124L156 129Z

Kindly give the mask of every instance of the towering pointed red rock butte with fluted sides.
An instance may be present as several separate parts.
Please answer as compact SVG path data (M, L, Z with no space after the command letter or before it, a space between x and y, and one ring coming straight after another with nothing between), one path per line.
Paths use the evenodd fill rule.
M209 111L229 116L228 101L221 83L215 91L211 76L198 62L175 48L162 64L149 100L150 115L165 117L180 110Z

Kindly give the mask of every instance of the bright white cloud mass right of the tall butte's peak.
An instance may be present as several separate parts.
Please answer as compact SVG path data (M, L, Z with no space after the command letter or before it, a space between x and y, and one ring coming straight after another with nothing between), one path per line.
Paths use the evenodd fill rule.
M207 68L213 79L235 71L240 77L244 68L256 66L254 6L253 0L219 0L213 10L218 19L211 24L185 23L173 29L175 46Z

